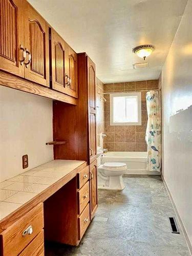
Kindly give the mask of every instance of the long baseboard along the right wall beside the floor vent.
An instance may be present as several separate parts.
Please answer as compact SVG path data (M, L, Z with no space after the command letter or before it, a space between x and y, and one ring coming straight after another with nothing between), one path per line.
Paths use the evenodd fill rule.
M164 185L165 185L165 188L166 188L166 190L167 190L167 193L168 193L168 195L169 195L170 201L172 202L172 205L173 205L174 210L175 210L175 212L176 212L176 216L177 216L177 219L178 219L179 224L180 224L180 226L181 226L181 229L182 229L184 238L185 238L185 240L186 240L186 243L187 243L189 252L190 252L190 254L192 255L192 245L191 245L191 243L190 243L190 241L189 241L189 238L188 238L188 236L187 236L187 232L186 232L185 227L184 227L184 225L183 225L183 222L182 222L182 220L181 220L181 218L180 218L180 216L179 216L179 212L178 212L177 207L176 207L176 205L175 205L175 202L174 202L174 200L173 200L173 198L172 198L172 195L170 194L168 185L167 185L167 183L166 183L166 181L165 181L163 175L161 175L161 177L162 177L163 183L164 183Z

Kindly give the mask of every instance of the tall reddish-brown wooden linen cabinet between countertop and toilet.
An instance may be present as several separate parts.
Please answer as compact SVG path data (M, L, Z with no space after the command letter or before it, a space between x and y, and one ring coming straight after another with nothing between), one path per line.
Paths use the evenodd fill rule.
M53 140L67 142L54 145L54 159L88 162L91 220L98 206L95 64L86 53L79 53L77 66L77 105L53 102Z

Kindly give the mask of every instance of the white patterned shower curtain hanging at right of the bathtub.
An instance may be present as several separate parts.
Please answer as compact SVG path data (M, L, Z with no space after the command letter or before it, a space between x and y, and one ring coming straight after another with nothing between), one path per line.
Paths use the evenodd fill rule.
M160 96L158 91L146 93L147 128L145 140L147 143L147 170L161 169L161 115Z

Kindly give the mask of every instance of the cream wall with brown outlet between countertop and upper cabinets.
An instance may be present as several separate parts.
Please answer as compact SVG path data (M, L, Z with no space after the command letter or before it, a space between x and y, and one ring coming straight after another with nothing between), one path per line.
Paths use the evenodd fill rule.
M0 87L0 182L53 159L52 100ZM28 154L29 167L22 167Z

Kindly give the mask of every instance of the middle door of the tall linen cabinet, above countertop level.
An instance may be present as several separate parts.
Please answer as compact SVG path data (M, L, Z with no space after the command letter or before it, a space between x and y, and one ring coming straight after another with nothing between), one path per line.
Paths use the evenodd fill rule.
M97 157L97 140L96 140L96 114L89 114L89 163L92 163Z

